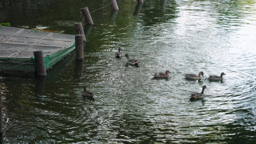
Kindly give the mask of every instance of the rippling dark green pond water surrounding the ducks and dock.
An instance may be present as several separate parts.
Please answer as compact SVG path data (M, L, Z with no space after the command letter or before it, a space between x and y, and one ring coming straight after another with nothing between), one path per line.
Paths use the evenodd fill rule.
M79 8L109 4L9 2L0 23L67 34L82 21ZM120 1L118 14L110 7L92 13L83 65L72 53L45 80L0 77L4 143L256 142L256 1L145 0L140 14L136 4ZM139 68L114 58L119 46L141 61ZM170 79L152 79L167 69ZM226 75L222 82L184 79L199 71ZM206 97L190 102L203 85ZM83 100L83 86L94 101Z

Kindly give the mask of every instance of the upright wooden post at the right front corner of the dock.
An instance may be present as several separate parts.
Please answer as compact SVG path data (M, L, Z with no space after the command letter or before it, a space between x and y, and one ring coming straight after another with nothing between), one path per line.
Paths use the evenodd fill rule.
M82 34L75 35L75 58L79 61L83 61L84 59L84 43Z

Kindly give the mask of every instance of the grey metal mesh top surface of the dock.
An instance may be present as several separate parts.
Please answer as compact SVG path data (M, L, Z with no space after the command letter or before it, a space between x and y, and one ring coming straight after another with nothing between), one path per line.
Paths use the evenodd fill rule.
M45 57L67 49L74 41L74 35L0 26L0 58L30 59L38 50Z

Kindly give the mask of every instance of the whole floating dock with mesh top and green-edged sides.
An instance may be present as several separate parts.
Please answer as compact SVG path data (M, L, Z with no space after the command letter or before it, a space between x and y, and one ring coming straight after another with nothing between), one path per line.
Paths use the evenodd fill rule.
M0 75L34 74L34 51L49 69L74 49L75 35L0 26Z

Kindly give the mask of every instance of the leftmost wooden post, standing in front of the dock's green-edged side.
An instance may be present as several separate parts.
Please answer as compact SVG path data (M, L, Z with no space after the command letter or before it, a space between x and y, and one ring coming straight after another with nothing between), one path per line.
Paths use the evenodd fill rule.
M46 76L43 51L34 51L34 69L36 76Z

